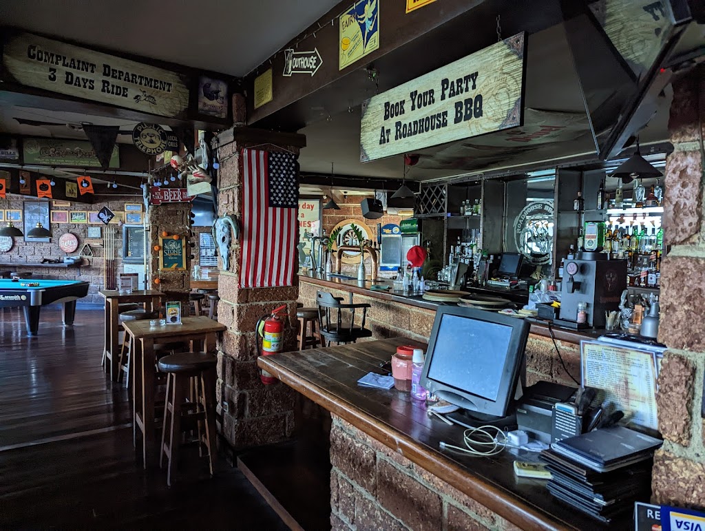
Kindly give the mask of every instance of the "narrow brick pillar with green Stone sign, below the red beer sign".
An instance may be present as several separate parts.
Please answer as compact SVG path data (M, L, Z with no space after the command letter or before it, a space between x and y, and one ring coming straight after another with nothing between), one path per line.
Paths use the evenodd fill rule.
M161 302L164 304L168 300L181 301L181 315L187 316L189 312L188 293L190 288L190 271L192 248L190 238L186 240L186 270L185 271L159 271L159 252L154 251L154 246L159 245L159 236L163 231L173 234L189 234L190 231L190 203L165 203L164 205L152 205L149 207L149 249L151 252L152 278L149 279L150 289L157 289L166 293L166 298ZM154 283L154 279L159 278L159 284Z

